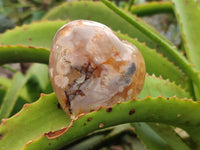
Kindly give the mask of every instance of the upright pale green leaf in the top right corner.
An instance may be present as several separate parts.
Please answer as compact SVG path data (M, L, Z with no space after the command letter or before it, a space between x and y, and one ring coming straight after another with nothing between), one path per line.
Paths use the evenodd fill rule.
M200 70L200 8L196 0L171 1L181 28L187 57Z

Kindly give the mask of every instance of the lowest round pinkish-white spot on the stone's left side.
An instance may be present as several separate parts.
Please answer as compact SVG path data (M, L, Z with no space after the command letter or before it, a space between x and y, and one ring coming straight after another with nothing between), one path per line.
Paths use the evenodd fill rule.
M65 88L69 83L69 79L68 77L57 75L54 78L54 82L55 82L55 85L58 86L59 88Z

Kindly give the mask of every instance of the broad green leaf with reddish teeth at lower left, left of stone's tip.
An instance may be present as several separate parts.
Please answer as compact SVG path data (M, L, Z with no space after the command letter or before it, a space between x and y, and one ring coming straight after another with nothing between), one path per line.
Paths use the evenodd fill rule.
M57 104L54 94L43 95L39 101L26 104L15 116L3 119L0 125L0 149L21 149L26 142L42 133L69 125L70 119Z

